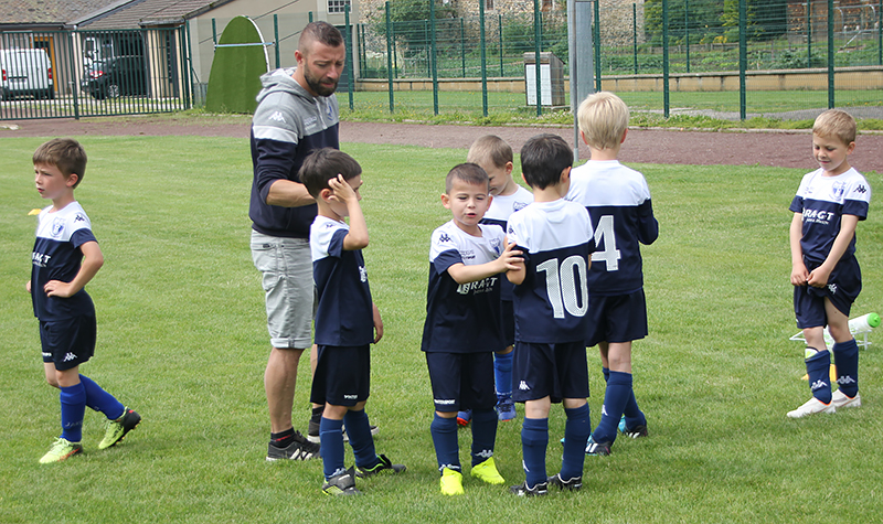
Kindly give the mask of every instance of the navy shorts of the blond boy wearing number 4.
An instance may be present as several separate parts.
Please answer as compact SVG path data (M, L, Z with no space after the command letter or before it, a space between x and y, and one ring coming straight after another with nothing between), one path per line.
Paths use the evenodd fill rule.
M643 289L629 295L592 295L588 308L592 332L586 347L598 342L630 342L647 336L647 300Z

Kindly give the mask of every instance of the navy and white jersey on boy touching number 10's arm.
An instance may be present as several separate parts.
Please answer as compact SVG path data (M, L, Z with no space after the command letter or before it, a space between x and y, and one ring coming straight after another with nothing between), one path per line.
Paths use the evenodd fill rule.
M500 281L506 277L457 284L448 274L455 264L474 266L499 258L503 231L485 224L479 228L481 236L472 236L451 221L433 232L423 351L478 353L506 347L500 311Z

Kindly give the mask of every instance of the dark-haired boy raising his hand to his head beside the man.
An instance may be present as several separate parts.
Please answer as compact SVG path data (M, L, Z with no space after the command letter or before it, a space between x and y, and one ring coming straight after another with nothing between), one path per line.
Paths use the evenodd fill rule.
M325 404L319 426L325 484L333 495L355 495L355 477L383 470L405 471L377 456L365 414L370 379L370 344L383 336L383 322L368 285L362 249L368 247L368 225L359 201L362 168L349 154L332 148L312 152L299 178L316 199L318 214L310 227L312 271L316 280L316 343L318 362L310 402ZM350 217L347 225L344 218ZM343 424L347 425L355 467L343 463Z

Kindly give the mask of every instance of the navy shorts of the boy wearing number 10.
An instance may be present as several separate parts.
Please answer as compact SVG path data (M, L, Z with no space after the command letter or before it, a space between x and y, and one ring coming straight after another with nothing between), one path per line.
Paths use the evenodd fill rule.
M515 342L512 361L512 399L588 397L588 370L583 341L560 344Z

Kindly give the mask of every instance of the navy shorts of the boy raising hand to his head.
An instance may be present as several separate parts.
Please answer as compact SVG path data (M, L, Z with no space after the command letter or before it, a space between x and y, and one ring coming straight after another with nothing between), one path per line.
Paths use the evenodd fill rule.
M310 389L311 403L352 407L368 400L370 389L371 351L368 344L319 346Z

